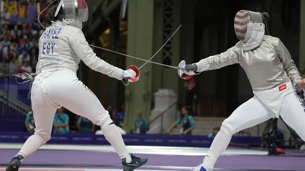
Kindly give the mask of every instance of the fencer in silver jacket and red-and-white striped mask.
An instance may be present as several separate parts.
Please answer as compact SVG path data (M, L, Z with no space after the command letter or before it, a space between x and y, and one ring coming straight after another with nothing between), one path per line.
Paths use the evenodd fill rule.
M301 79L280 39L264 35L268 18L267 13L239 11L234 30L240 42L222 54L185 66L186 74L195 74L238 63L245 70L254 93L253 98L223 121L203 163L193 168L194 171L212 171L234 133L272 117L281 116L305 140L305 106L296 92L305 88L305 80Z

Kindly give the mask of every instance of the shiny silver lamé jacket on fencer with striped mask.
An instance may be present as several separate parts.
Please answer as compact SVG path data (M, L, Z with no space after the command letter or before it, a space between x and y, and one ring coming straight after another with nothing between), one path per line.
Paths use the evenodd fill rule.
M244 42L238 42L224 53L202 59L195 63L197 72L238 63L245 70L254 91L275 88L290 82L290 78L295 84L301 81L298 68L279 38L262 35L259 42L254 49L250 48L252 50L247 49Z

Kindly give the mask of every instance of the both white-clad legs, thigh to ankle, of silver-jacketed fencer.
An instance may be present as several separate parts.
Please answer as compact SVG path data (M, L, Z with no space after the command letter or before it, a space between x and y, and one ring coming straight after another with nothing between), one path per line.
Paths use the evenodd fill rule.
M295 88L293 89L295 90ZM288 92L284 97L279 115L287 125L305 140L305 106L294 90ZM206 170L213 170L215 162L229 145L234 133L258 125L272 117L275 117L275 113L254 95L253 98L240 105L230 117L222 122L221 131L214 138L202 166Z

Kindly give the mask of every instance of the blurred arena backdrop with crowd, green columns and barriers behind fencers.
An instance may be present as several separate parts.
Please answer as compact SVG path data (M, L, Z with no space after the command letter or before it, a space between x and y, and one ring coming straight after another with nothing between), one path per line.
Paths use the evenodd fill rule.
M38 41L44 31L38 15L44 10L40 22L45 27L51 26L46 7L52 0L0 2L0 73L35 73ZM137 58L148 60L182 25L152 60L171 66L177 66L181 60L192 64L234 46L238 42L234 17L239 10L268 12L269 34L281 39L300 73L305 74L305 1L86 2L89 18L83 33L87 42ZM56 2L49 8L55 5ZM93 50L97 57L122 69L144 64L120 54ZM250 83L239 65L206 71L183 80L173 68L147 63L140 70L140 80L128 86L91 70L83 62L79 64L77 74L108 110L127 145L209 147L222 121L253 97ZM26 135L34 132L29 89L30 82L19 84L15 78L0 78L0 142L22 143L28 137ZM281 119L276 122L277 142L284 143L281 148L300 149L303 141ZM232 144L267 148L266 139L274 133L272 123L273 119L234 134ZM102 134L100 128L87 118L61 108L55 115L49 143L108 144L99 139L102 135L98 134ZM73 138L78 136L79 139ZM84 140L81 138L84 136L91 139Z

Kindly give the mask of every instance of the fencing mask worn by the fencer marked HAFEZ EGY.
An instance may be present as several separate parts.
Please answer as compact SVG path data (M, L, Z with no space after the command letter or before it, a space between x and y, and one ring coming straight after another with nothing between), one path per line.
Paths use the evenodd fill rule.
M59 10L62 8L62 14ZM64 25L70 25L82 30L88 20L88 8L84 0L60 0L55 17L58 16L59 20Z

